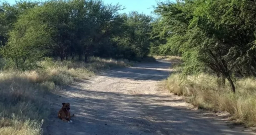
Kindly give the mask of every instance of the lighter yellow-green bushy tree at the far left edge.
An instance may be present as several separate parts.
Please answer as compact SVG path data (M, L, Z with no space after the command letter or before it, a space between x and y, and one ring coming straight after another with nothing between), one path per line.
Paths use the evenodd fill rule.
M1 54L9 67L18 70L37 68L37 61L44 57L51 42L52 31L47 24L37 21L41 10L32 10L21 15L9 33L8 43Z

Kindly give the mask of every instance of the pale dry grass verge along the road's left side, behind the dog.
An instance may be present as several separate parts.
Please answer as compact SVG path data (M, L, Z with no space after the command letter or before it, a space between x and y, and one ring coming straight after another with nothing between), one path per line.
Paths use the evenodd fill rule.
M48 104L43 97L58 92L77 79L87 79L101 69L129 66L126 60L92 57L89 63L42 61L41 70L0 71L1 135L42 135Z

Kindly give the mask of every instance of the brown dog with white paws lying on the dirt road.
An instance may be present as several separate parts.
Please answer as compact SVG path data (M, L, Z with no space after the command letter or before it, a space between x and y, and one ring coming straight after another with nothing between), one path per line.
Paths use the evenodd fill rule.
M68 121L68 123L73 122L70 118L69 110L70 110L70 104L62 103L62 108L58 112L58 117L63 121ZM72 116L74 116L74 114Z

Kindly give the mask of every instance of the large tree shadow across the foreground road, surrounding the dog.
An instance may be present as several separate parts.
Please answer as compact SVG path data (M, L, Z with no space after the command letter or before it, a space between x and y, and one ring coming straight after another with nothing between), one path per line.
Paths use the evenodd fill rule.
M201 117L186 106L170 106L183 101L170 100L168 95L135 96L77 87L69 89L72 91L78 93L75 98L62 93L60 102L55 103L46 127L48 135L245 135L227 130L223 121ZM74 123L57 118L62 102L70 103Z

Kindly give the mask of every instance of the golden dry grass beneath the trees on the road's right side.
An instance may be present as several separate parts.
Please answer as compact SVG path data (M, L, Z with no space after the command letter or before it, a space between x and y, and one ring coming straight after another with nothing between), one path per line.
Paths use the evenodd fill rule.
M224 87L216 81L217 77L206 74L188 76L182 81L179 74L173 74L165 86L176 95L188 96L188 102L198 108L226 111L236 122L256 126L256 80L238 80L235 94L227 81Z

